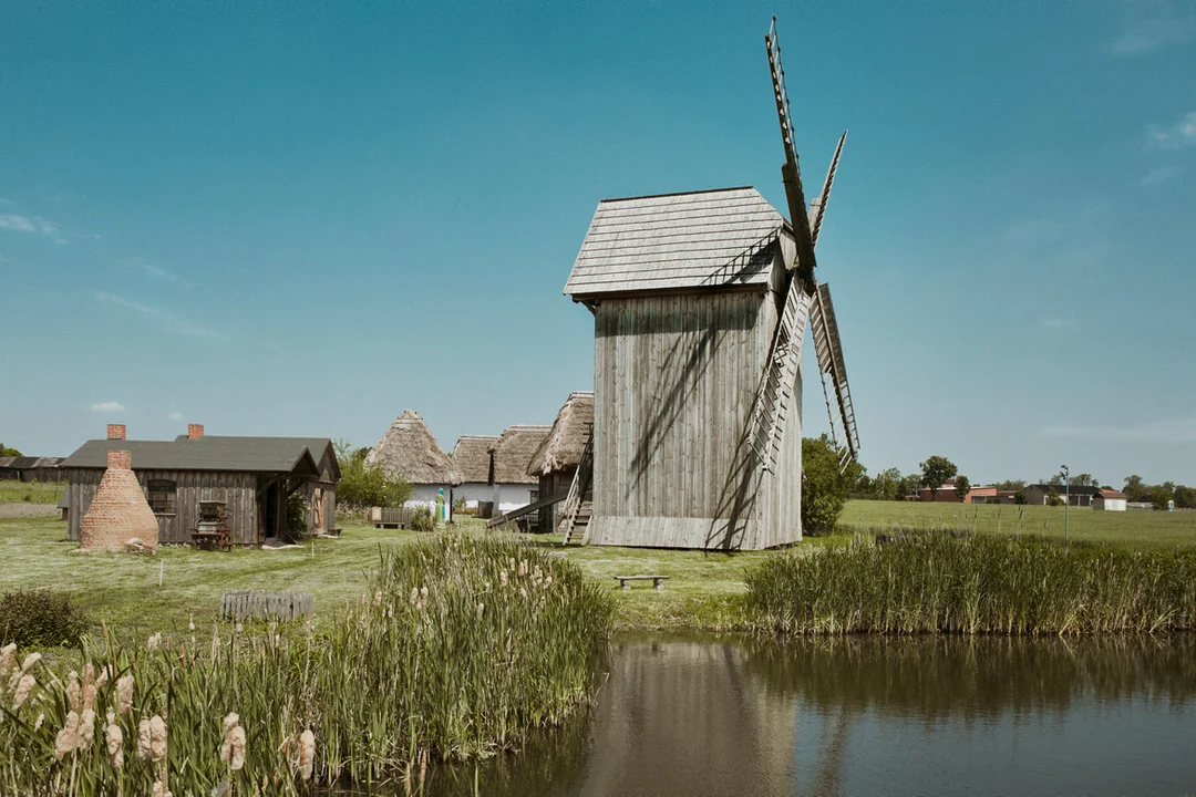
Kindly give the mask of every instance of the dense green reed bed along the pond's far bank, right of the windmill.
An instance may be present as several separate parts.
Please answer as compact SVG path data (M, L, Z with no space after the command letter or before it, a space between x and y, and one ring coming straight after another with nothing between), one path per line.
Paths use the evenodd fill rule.
M750 623L775 634L1159 633L1196 629L1196 551L1130 552L896 529L746 572Z

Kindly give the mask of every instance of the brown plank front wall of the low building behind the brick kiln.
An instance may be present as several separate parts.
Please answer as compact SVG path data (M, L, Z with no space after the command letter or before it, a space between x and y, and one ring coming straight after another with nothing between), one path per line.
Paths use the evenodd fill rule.
M197 522L200 501L224 501L232 541L238 545L257 542L257 477L254 473L225 473L210 471L138 471L142 491L151 479L166 479L176 484L177 514L158 515L159 542L190 542L191 529ZM96 468L74 470L71 473L67 537L79 539L79 521L83 520L104 471Z

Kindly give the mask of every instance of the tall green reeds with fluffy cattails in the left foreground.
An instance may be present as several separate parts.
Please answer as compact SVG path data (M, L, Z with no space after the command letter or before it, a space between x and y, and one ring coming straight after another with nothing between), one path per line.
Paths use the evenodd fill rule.
M124 645L81 674L0 652L0 793L297 795L422 779L518 747L592 689L609 596L515 542L440 535L380 559L328 632L240 625Z

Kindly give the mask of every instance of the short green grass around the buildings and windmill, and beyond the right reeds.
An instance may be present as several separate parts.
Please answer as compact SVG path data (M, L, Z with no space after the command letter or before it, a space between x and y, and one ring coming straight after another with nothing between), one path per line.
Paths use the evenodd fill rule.
M1000 514L1000 520L997 515ZM474 528L477 521L470 521ZM816 552L850 540L854 532L895 526L974 528L978 533L1063 535L1062 508L971 507L849 502L835 537L807 538L798 546ZM1073 509L1074 541L1129 548L1196 546L1196 513L1093 513ZM404 545L419 534L349 526L341 539L322 539L304 548L242 550L210 553L164 547L157 557L80 554L66 540L66 525L54 517L0 520L0 590L17 588L71 591L94 623L135 630L139 636L185 630L194 617L210 627L227 589L303 590L316 595L317 623L366 589L366 577L379 551ZM553 546L559 537L527 538L530 545ZM560 548L557 548L560 550ZM315 553L315 556L312 556ZM744 624L744 568L768 552L702 553L640 548L570 547L565 556L616 594L620 630L733 630ZM159 569L163 584L158 586ZM614 576L669 576L664 590L640 582L618 589Z

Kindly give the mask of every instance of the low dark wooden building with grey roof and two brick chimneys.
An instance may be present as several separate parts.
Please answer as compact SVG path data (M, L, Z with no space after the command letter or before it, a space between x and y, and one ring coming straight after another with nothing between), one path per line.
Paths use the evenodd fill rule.
M208 436L193 423L175 440L127 440L124 424L109 424L105 440L89 440L60 465L68 484L59 505L72 540L79 539L109 450L132 454L164 544L191 541L200 501L225 502L234 545L283 535L287 498L295 492L307 501L309 527L323 532L336 525L341 468L328 437Z

